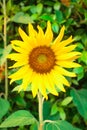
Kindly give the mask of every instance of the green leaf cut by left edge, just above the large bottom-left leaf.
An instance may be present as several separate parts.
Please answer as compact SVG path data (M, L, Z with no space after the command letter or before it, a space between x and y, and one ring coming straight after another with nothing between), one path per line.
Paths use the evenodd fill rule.
M0 119L8 112L10 104L7 100L0 98Z

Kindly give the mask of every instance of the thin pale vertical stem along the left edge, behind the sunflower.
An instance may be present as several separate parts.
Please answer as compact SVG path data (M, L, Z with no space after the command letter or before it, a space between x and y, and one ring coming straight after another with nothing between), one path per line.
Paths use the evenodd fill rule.
M6 16L6 0L3 0L3 14L4 14L4 49L7 46L7 16ZM5 61L5 99L8 98L8 72L7 59Z

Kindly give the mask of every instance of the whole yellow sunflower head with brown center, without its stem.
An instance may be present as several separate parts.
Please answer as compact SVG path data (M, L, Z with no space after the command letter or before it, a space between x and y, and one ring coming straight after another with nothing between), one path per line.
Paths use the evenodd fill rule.
M76 74L66 68L80 67L74 62L80 56L80 52L73 51L76 45L70 45L73 42L72 36L62 41L64 26L55 40L49 21L45 33L40 26L37 28L38 31L29 23L28 35L19 28L22 41L12 41L12 48L16 52L8 56L16 61L10 68L19 69L9 78L11 83L22 79L19 91L26 90L31 83L33 97L40 91L47 98L47 91L58 95L58 90L65 92L64 86L70 86L66 76L75 77Z

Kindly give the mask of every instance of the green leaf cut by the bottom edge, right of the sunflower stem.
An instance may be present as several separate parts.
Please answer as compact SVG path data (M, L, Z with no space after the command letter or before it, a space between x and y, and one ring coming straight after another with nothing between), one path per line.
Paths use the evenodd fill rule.
M67 121L49 121L49 123L45 124L44 130L81 130L79 128L74 127Z

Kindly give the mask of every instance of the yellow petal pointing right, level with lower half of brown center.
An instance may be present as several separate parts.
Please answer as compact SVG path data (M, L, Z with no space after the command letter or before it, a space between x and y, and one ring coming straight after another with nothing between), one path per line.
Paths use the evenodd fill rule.
M56 64L65 67L65 68L76 68L76 67L81 67L80 64L72 62L72 61L58 61Z

